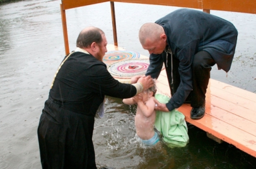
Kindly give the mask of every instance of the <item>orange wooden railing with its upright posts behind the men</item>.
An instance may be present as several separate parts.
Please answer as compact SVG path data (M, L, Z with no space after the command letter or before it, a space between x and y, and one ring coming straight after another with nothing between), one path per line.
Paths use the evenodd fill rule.
M225 1L223 0L200 0L200 1L197 1L197 0L172 0L172 1L169 1L169 0L158 0L158 1L155 1L155 0L76 0L76 1L62 0L61 2L62 2L60 4L61 18L62 18L62 27L63 27L63 36L64 36L66 55L69 54L66 10L81 7L81 6L110 2L113 38L114 38L115 46L118 46L118 36L117 36L117 23L115 22L114 2L195 8L195 9L202 9L204 12L207 12L209 14L210 14L210 10L224 10L224 11L256 14L255 0L243 0L242 2L240 0L225 0Z

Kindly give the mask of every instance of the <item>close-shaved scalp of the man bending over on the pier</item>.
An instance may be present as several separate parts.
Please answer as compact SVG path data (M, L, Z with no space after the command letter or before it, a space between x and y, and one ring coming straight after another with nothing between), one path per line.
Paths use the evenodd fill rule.
M146 41L158 41L163 33L165 33L164 29L159 24L145 23L138 32L139 42L144 45Z

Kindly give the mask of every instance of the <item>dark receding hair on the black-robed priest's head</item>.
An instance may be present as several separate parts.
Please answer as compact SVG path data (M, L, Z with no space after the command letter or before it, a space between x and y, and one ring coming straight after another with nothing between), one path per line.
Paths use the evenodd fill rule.
M96 27L87 27L83 29L76 40L76 47L87 48L93 42L100 44L102 42L102 34L104 32Z

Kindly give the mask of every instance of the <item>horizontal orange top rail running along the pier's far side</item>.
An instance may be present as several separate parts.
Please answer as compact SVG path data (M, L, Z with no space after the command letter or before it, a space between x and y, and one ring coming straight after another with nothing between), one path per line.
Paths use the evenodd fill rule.
M110 2L107 0L62 0L62 8L64 10L76 8L80 6L98 4L103 2ZM249 14L256 14L256 2L254 0L116 0L111 2L121 3L136 3L136 4L151 4L151 5L166 5L177 6L185 8L204 9L207 12L210 10L224 10L245 12Z

